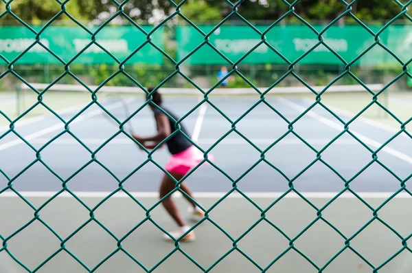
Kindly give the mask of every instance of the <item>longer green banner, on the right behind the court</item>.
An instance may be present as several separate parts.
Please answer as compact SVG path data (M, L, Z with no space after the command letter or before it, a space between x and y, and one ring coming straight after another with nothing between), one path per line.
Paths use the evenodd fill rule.
M264 32L268 26L256 27ZM323 30L323 26L314 26L317 31ZM200 29L206 34L212 26L201 26ZM379 27L371 27L373 32L378 32ZM179 60L185 58L192 50L205 41L205 36L200 34L191 26L181 26L177 29L177 41L179 43L177 56ZM341 58L350 63L360 56L367 48L374 44L375 39L360 25L332 26L322 34L323 41L329 45ZM296 61L304 56L314 45L319 42L317 34L305 25L279 25L265 34L266 41L272 45L279 54L282 54L290 62ZM412 26L393 25L379 35L382 44L387 45L390 50L406 62L412 57L410 49L412 45ZM240 60L249 50L262 41L260 34L249 26L222 26L209 36L209 42L224 54L230 61L235 63ZM192 65L228 65L212 47L203 45L185 61ZM286 62L266 45L260 45L251 54L242 60L244 64L275 63L286 64ZM354 63L355 65L387 65L397 64L395 58L390 56L379 45L375 45L366 54ZM309 54L301 58L299 64L330 64L343 65L343 62L335 56L328 48L319 45Z

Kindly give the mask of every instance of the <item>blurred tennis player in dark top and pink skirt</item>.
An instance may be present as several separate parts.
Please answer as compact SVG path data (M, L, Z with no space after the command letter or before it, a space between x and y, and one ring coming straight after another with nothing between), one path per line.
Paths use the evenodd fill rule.
M148 91L152 92L153 87L149 87ZM146 99L148 99L148 97L146 97ZM152 94L152 102L161 107L161 109L163 109L163 111L165 111L172 118L174 118L174 120L179 120L179 118L177 118L177 116L175 116L174 113L172 113L170 110L163 106L162 97L158 91L155 91L155 93ZM170 134L176 131L176 127L175 122L171 120L168 116L166 116L162 111L160 111L151 104L149 106L155 115L157 133L156 135L152 135L147 138L143 138L139 135L133 135L133 138L135 138L135 140L142 144L146 149L155 149L155 147L160 142L162 142ZM180 123L180 127L181 131L185 133L185 135L189 136L183 124ZM170 175L172 175L172 177L174 177L174 179L176 179L177 181L180 181L192 168L194 168L203 160L203 153L201 153L201 151L199 151L195 146L193 146L193 144L189 140L187 140L187 138L185 138L185 136L183 136L181 132L173 135L172 138L165 142L165 144L167 144L168 150L172 154L172 158L170 158L168 163L165 165L165 170L168 171L168 173L170 173ZM209 155L209 160L213 160L213 155ZM170 191L172 191L175 187L176 184L173 181L173 179L171 179L166 174L163 175L163 179L161 181L161 186L159 190L159 197L165 197L165 195L170 193ZM187 193L187 195L194 199L190 188L187 186L187 184L185 184L185 182L181 182L180 188L185 193ZM189 210L192 216L196 218L203 217L203 210L198 208L198 206L196 206L196 204L194 204L192 200L190 200L190 198L187 198L187 200L190 201L191 204ZM181 216L181 213L179 212L171 196L164 199L162 204L168 211L170 216L172 216L174 221L176 221L176 223L179 225L179 230L169 232L175 239L178 239L185 232L187 232L187 230L190 229L190 226L187 226L187 223ZM168 237L167 234L164 234L164 238L171 240L171 238ZM181 241L194 241L194 239L194 232L191 231L185 237L183 237Z

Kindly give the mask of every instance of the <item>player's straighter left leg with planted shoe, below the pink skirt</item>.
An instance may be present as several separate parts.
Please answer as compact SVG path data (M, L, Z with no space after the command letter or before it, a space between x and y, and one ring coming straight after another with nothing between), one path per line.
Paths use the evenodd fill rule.
M183 177L175 173L171 173L171 175L177 181L179 181ZM159 197L162 199L163 197L168 195L168 193L170 193L175 187L176 184L173 181L173 179L170 178L168 175L164 175L159 190ZM181 213L179 212L176 203L173 201L172 196L168 196L165 199L163 199L162 204L165 207L165 210L169 213L169 215L174 219L174 221L176 221L176 223L179 226L179 230L176 230L175 232L170 232L170 234L172 234L172 236L175 239L177 239L181 237L183 233L187 232L187 230L189 230L190 227L187 226L185 219L183 219L183 217L181 216ZM168 235L166 234L164 238L170 239L170 237L168 237ZM182 239L182 241L194 241L194 239L194 232L190 232Z

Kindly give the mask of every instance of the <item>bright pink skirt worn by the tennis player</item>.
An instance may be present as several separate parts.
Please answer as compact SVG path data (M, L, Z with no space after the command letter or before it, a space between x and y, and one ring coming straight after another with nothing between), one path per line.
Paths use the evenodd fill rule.
M213 162L214 155L208 154L207 158ZM165 170L169 173L178 173L179 175L186 175L192 168L196 167L203 160L203 153L195 146L190 146L181 153L172 155L172 158L165 166Z

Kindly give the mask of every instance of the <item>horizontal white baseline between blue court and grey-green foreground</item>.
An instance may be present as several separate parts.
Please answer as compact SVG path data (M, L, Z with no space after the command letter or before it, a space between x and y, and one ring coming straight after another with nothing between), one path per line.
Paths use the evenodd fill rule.
M41 197L41 198L50 198L53 197L56 192L51 192L51 191L19 191L23 197ZM80 198L104 198L107 197L108 195L111 194L111 192L74 192L78 197ZM227 193L225 192L199 192L199 193L194 193L194 197L196 198L208 198L208 199L215 199L215 198L221 198ZM284 195L284 192L269 192L269 193L259 193L259 192L245 192L245 195L251 198L266 198L266 199L275 199L278 198L282 195ZM301 195L304 195L304 197L307 198L316 198L316 199L331 199L338 195L339 193L335 192L301 192ZM393 193L388 193L388 192L382 192L382 193L372 193L372 192L365 192L365 193L357 193L360 197L362 198L371 198L371 199L379 199L379 198L388 198L393 195ZM159 198L159 193L157 192L130 192L130 195L136 198ZM5 197L5 198L12 198L12 197L18 197L14 192L12 191L7 191L5 193L1 193L0 198ZM61 193L59 197L67 198L67 197L72 197L69 193ZM174 198L181 198L183 195L181 193L175 193L173 195ZM130 198L126 193L116 193L113 195L111 198ZM239 198L244 198L242 195L239 193L232 193L229 195L227 198L229 199L239 199ZM300 199L299 195L296 193L289 193L284 197L285 199ZM339 196L339 198L343 199L355 199L354 195L352 193L345 192L342 195ZM398 199L406 199L406 198L411 198L411 195L408 193L399 193L396 195L396 198Z

